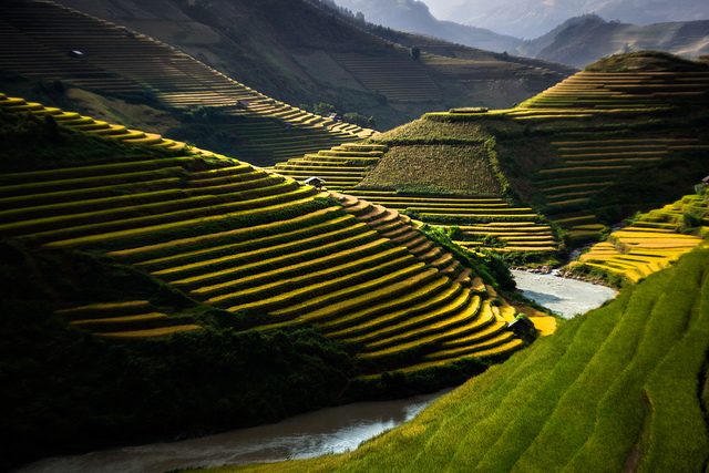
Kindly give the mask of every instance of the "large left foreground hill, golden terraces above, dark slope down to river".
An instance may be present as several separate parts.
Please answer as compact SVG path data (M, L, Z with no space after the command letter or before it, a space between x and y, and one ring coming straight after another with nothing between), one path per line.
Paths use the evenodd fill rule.
M435 390L525 346L500 259L397 210L4 94L0 133L3 467Z

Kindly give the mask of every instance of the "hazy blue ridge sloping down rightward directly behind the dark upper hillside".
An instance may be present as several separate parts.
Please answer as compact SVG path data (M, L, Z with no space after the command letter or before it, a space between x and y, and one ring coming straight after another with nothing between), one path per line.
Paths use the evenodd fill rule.
M418 0L335 0L335 3L353 14L362 13L364 20L371 23L429 34L486 51L510 51L522 43L512 35L497 34L461 22L438 20L431 14L429 7Z

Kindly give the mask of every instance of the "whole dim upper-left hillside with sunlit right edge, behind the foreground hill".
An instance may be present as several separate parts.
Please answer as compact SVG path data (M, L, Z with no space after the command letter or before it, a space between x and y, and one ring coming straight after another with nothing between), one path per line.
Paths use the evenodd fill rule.
M129 126L160 115L154 126L165 135L255 164L373 133L275 101L174 48L55 3L10 1L0 9L8 93L100 111ZM167 122L174 125L164 130Z

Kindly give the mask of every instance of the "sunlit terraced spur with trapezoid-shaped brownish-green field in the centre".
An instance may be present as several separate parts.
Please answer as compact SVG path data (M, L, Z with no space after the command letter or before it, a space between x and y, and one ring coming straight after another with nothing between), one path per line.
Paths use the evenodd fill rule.
M558 241L542 216L502 198L504 181L486 137L476 125L419 120L369 144L345 144L273 169L299 181L315 176L329 189L454 227L453 240L464 248L556 251Z

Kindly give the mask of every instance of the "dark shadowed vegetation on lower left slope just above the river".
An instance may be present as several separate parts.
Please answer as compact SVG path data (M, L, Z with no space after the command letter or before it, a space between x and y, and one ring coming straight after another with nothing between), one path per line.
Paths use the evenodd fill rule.
M277 421L332 403L352 373L349 356L311 329L237 332L229 328L236 316L194 307L130 267L16 243L0 251L1 284L13 288L0 302L3 470L43 455ZM76 304L143 297L171 319L212 328L114 343L52 315L56 295Z

